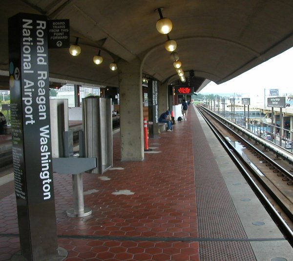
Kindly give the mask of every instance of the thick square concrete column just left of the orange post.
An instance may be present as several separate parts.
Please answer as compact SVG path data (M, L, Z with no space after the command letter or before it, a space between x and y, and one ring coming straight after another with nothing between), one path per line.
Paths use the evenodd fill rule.
M143 88L140 62L118 61L121 160L142 161L144 152Z

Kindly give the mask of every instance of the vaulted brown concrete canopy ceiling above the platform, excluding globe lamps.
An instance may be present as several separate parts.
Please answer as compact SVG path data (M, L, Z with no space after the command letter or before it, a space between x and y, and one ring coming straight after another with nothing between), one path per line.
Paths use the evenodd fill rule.
M71 43L79 37L82 53L49 50L50 77L64 82L118 86L109 63L145 58L143 73L160 81L178 80L156 30L159 14L173 22L169 33L187 73L222 83L293 46L292 0L1 0L0 70L8 71L8 25L13 15L43 14L69 19ZM93 63L101 49L104 61ZM3 72L2 72L3 74ZM269 75L268 75L269 77ZM1 80L2 82L3 80ZM8 81L7 81L8 83ZM202 86L197 86L199 91Z

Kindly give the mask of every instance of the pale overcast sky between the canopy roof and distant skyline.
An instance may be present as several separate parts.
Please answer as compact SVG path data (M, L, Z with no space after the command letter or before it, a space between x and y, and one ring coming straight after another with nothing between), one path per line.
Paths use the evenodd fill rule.
M265 90L266 89L266 90ZM279 96L293 94L293 48L263 62L251 70L222 84L210 82L200 94L242 94L242 97L264 98L270 89Z

